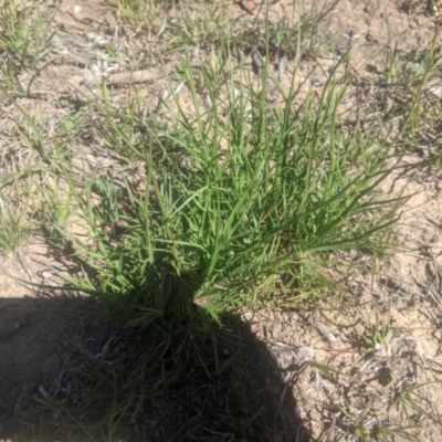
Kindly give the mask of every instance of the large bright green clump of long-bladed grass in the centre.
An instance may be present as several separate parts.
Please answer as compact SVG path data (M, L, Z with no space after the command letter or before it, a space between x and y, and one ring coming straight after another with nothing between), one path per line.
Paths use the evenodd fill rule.
M95 243L78 242L78 253L96 262L99 276L76 284L129 307L134 324L151 319L138 315L140 306L161 316L169 302L177 308L191 296L239 307L266 299L264 282L313 284L325 253L370 249L398 202L376 198L388 150L369 150L372 139L339 124L345 87L329 83L318 104L308 97L302 109L291 105L293 90L277 112L265 87L232 81L221 117L214 88L212 107L202 110L189 65L185 71L196 116L177 102L170 131L141 123L131 129L151 136L134 145L139 137L118 124L127 116L108 109L107 144L144 165L145 182L86 181L78 199Z

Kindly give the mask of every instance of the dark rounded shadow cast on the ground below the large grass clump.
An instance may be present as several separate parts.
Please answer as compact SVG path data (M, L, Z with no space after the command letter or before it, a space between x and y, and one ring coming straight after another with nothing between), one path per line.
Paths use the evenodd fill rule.
M192 350L182 322L168 335L81 315L104 308L85 297L0 299L0 439L311 439L276 359L235 315ZM151 347L168 336L176 345Z

